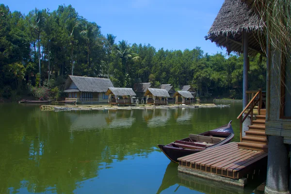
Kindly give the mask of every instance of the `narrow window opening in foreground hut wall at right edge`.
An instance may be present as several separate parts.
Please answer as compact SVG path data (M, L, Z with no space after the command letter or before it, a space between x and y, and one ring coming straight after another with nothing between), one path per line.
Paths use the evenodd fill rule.
M281 118L291 119L291 58L282 55Z

